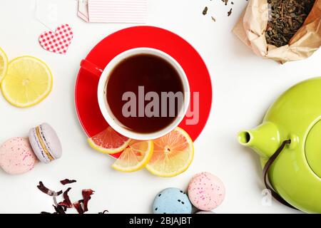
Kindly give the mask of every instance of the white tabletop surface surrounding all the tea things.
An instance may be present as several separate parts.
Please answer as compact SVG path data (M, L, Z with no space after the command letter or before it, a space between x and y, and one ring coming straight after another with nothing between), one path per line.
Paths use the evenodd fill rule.
M41 0L45 1L45 0ZM76 0L54 0L58 21L73 27L74 39L66 56L44 51L38 36L47 28L35 18L34 0L0 0L0 46L9 58L33 55L49 64L54 88L46 100L32 108L15 108L0 95L0 142L28 134L29 128L48 122L56 128L63 157L49 165L36 165L25 175L6 175L0 170L0 212L52 212L51 197L36 189L39 180L60 189L59 180L76 179L73 200L81 190L96 190L90 212L150 213L153 197L166 187L185 189L193 175L208 171L225 183L226 198L217 213L293 213L274 200L263 204L262 170L258 156L238 145L239 130L260 123L267 108L280 93L307 78L321 76L321 51L311 58L280 65L255 56L231 32L247 1L148 0L148 24L160 26L190 42L203 56L213 83L213 109L200 138L190 168L169 179L146 170L124 174L111 169L113 158L92 150L86 141L74 108L74 84L78 66L88 51L108 34L128 24L86 24L76 16ZM208 15L203 16L205 6ZM215 16L216 22L210 19ZM71 210L73 212L73 210Z

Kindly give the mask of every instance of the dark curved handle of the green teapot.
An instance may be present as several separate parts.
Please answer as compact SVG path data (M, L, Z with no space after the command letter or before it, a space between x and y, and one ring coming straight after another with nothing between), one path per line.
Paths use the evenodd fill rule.
M264 179L265 187L267 188L267 190L270 190L272 197L274 197L275 199L277 199L278 202L284 204L287 207L291 207L292 209L297 209L297 208L293 207L291 204L289 204L288 202L286 202L285 199L283 199L280 195L277 194L277 192L275 192L275 190L273 190L272 186L270 186L270 184L268 182L268 176L267 176L267 172L270 170L270 167L273 164L273 162L275 161L275 159L277 158L277 156L280 155L280 153L284 149L285 145L290 144L290 143L291 143L291 140L283 141L282 144L280 145L280 147L277 149L277 151L275 151L275 153L270 157L270 159L267 160L267 162L263 168L263 179Z

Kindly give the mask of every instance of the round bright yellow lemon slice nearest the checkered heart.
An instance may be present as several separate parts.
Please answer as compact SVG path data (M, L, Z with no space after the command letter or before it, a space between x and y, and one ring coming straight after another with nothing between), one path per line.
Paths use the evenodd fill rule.
M9 62L6 77L1 83L4 98L19 108L40 103L51 92L52 75L43 61L21 56Z

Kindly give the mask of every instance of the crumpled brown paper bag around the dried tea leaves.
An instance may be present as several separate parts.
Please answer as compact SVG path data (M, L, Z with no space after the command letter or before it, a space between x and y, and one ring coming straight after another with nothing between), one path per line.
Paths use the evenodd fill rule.
M308 58L321 46L321 0L316 0L305 23L290 43L277 48L267 44L265 31L269 17L267 0L250 0L233 32L258 56L280 63Z

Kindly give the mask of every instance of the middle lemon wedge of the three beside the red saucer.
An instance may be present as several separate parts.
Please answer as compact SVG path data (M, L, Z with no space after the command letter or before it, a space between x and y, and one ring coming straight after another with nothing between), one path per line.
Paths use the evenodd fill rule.
M111 167L121 172L135 172L145 167L152 155L153 141L131 140Z

